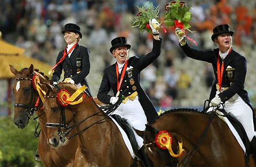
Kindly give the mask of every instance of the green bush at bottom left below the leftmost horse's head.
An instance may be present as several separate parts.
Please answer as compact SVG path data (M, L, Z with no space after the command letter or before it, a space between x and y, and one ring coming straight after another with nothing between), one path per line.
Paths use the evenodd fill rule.
M35 160L36 121L30 121L25 129L18 129L7 116L0 117L0 122L0 167L42 167L42 162Z

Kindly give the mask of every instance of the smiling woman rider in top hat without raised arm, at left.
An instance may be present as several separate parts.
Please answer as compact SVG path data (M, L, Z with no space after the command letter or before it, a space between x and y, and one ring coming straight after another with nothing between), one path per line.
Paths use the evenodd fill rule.
M90 72L90 50L78 44L82 38L80 27L73 23L65 24L62 31L64 40L67 42L65 49L59 52L51 80L57 83L64 71L64 81L75 83L78 87L86 85L85 91L90 95L89 85L86 76Z

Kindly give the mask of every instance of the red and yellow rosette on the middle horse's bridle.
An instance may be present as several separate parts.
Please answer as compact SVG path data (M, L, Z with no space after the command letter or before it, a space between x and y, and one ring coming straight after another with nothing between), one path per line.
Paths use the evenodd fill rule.
M70 95L70 93L66 89L60 89L60 91L57 94L57 99L60 102L62 106L67 106L67 105L75 105L79 104L85 99L85 93L80 97L80 99L76 100L75 99L82 93L84 90L87 89L85 85L82 85L79 89L76 90L73 95Z

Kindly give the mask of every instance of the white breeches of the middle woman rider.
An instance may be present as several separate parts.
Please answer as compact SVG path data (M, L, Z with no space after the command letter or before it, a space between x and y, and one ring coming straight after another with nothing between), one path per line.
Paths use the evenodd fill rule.
M127 99L125 104L121 103L113 112L113 114L118 114L122 118L127 119L127 122L130 124L130 126L137 130L143 131L146 129L145 125L147 124L147 118L141 103L139 103L138 96L135 97L133 101ZM138 149L140 149L143 146L143 139L141 136L137 135L135 131L134 134L138 143Z

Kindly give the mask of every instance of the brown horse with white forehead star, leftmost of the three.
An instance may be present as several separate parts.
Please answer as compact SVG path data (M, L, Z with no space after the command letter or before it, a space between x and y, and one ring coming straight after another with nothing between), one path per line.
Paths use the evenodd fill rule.
M43 165L49 167L73 166L73 160L75 159L78 147L77 137L72 138L71 142L58 148L53 148L52 145L47 143L47 121L44 109L42 108L43 101L40 98L40 96L44 96L43 90L36 89L35 87L37 87L36 82L40 81L42 84L44 82L50 84L50 80L42 72L34 69L33 65L30 65L29 68L22 68L20 71L16 70L12 65L9 66L11 72L16 76L13 85L15 99L13 122L19 129L24 129L36 111L40 125L38 154Z

